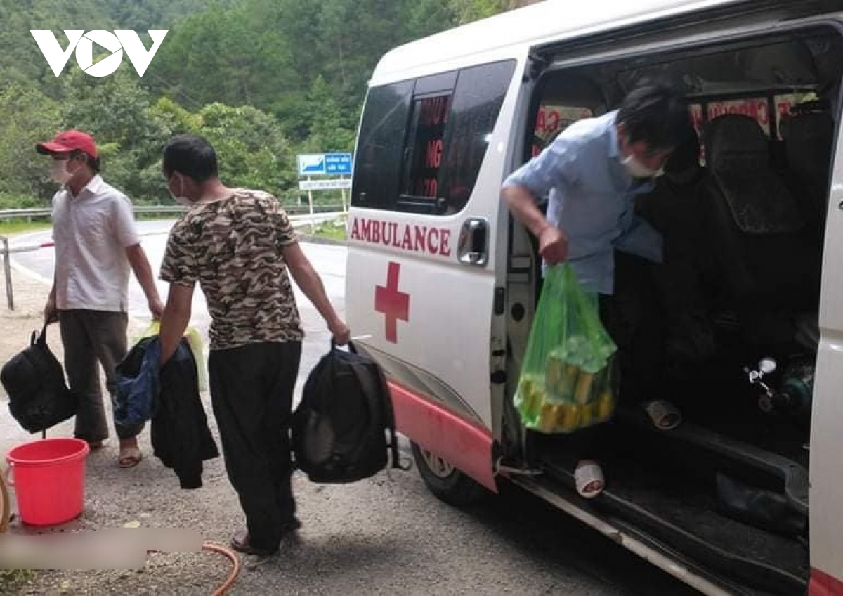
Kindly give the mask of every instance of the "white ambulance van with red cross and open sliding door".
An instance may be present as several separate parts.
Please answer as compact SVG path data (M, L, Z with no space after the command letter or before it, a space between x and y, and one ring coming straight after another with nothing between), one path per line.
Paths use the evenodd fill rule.
M840 0L550 1L382 57L346 314L434 494L513 482L703 593L843 594L841 75ZM682 89L699 141L698 175L635 206L674 271L659 299L685 421L619 408L623 448L587 501L566 437L514 410L540 260L500 188L652 76Z

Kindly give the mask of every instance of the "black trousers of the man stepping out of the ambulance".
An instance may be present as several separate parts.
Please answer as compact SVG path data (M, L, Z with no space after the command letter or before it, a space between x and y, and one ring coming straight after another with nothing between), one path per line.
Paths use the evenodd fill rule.
M615 293L599 295L600 319L618 346L620 404L635 407L664 399L663 307L656 285L658 265L615 251ZM584 428L569 437L578 459L600 459L614 446L607 424Z

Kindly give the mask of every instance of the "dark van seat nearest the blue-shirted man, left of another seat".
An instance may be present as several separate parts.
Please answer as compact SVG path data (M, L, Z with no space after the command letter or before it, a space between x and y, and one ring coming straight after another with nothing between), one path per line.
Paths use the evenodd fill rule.
M797 315L818 309L816 230L773 167L754 118L722 115L708 123L705 137L711 175L703 194L717 306L736 316L749 343L791 343Z

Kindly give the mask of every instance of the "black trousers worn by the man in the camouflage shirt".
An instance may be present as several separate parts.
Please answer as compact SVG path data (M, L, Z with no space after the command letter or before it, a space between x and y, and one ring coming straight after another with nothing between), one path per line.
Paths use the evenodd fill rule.
M289 427L301 354L301 342L291 341L212 350L208 357L228 480L259 549L277 550L296 511Z

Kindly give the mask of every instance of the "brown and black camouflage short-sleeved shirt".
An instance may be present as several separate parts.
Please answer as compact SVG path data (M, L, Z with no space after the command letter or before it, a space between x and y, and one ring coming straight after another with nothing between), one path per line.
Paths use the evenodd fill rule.
M160 278L199 283L212 322L210 348L301 341L303 329L282 249L293 226L266 192L237 189L194 205L169 234Z

